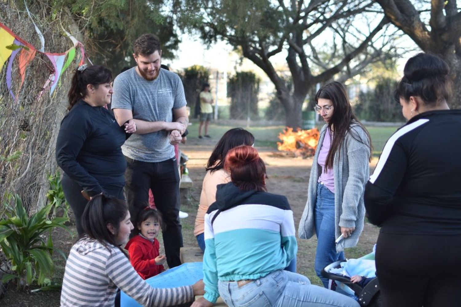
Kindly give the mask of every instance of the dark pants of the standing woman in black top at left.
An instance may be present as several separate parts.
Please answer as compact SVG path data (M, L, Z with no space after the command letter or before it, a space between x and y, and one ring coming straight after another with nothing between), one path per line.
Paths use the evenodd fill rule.
M75 225L77 226L78 237L82 237L83 228L81 219L86 204L88 203L85 197L82 196L83 188L66 174L62 176L61 184L62 190L64 191L65 199L67 200L69 205L71 205L72 211L74 212ZM104 189L104 192L106 192L107 194L123 200L125 199L123 195L123 186L109 186L102 184L101 186Z

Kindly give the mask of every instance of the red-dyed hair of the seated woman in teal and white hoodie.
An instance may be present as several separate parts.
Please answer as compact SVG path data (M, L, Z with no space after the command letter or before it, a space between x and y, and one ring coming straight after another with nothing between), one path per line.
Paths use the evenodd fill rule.
M227 152L225 170L242 191L266 191L266 165L252 146L241 145Z

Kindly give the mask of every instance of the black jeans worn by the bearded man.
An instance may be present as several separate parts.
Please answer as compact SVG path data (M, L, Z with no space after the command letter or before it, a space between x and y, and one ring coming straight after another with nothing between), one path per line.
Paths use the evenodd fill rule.
M125 159L125 194L133 226L137 228L136 216L148 206L151 189L155 207L162 214L165 226L162 233L166 262L170 268L179 266L183 235L179 221L179 173L176 158L162 162L142 162L126 156Z

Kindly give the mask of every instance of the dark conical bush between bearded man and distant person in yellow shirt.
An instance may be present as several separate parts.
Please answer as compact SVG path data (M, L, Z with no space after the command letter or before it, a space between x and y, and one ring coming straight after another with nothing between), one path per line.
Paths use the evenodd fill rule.
M208 83L210 72L206 67L201 65L192 65L186 68L180 76L183 81L187 104L193 106L191 114L196 116L198 115L198 113L195 112L195 110L197 110L197 103L199 103L198 97L203 84Z

